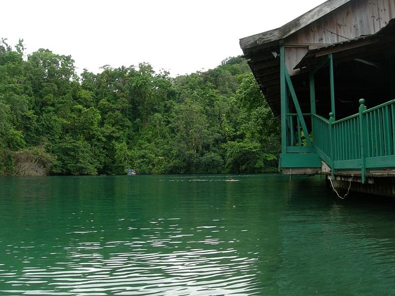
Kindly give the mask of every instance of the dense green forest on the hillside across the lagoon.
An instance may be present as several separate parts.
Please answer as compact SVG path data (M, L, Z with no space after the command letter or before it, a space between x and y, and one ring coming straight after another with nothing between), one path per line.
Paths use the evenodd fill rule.
M276 171L279 122L241 57L174 78L24 51L1 39L0 175Z

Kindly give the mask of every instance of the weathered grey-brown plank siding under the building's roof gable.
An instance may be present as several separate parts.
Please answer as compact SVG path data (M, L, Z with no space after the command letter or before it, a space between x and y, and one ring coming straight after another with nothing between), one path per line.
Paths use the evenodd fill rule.
M331 44L371 35L393 18L395 0L355 0L340 6L284 39L289 73L297 73L292 69L307 53L306 44Z

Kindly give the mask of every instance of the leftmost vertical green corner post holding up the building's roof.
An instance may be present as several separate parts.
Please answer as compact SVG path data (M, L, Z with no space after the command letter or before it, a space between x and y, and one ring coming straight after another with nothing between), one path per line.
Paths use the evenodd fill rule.
M287 94L285 85L285 50L284 45L280 46L280 95L281 95L281 151L282 153L287 152L287 118L286 118L286 106L287 106Z

